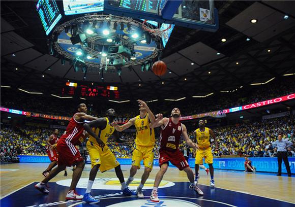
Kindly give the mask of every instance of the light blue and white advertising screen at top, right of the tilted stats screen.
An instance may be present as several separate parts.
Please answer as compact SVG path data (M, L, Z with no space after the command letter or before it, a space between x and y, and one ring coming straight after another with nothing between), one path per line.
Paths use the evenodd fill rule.
M65 15L102 12L104 0L63 0Z

